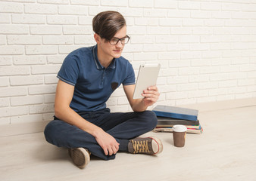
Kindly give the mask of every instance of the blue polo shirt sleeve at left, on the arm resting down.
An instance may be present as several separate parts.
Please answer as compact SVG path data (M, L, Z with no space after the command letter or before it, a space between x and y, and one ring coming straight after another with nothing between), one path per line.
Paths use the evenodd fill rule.
M79 75L79 65L73 55L67 55L64 62L62 63L61 69L58 72L57 77L61 81L66 82L75 86Z

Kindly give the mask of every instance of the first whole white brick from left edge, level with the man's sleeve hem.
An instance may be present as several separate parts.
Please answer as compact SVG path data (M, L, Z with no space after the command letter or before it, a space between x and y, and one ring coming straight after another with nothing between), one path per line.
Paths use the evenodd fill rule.
M10 78L11 85L30 85L30 84L42 84L42 75L23 75L23 76L13 76Z

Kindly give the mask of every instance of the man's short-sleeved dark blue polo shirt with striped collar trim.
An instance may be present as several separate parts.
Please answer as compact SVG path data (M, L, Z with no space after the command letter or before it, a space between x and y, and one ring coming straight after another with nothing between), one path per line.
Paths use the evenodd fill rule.
M112 60L108 68L101 66L97 45L68 54L57 77L74 86L70 107L75 112L105 109L106 101L120 84L135 84L133 66L125 58Z

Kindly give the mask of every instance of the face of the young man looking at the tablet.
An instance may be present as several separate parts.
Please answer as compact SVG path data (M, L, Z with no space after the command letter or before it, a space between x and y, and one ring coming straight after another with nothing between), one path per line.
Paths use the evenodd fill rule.
M114 35L113 38L125 38L125 37L126 37L126 26L123 26L123 28L120 29ZM121 44L120 41L118 41L117 44L112 45L109 43L108 40L105 40L104 38L99 38L99 41L97 41L97 43L98 43L99 52L101 52L103 57L105 57L105 59L108 59L108 60L112 60L113 58L119 58L124 48L124 44Z

